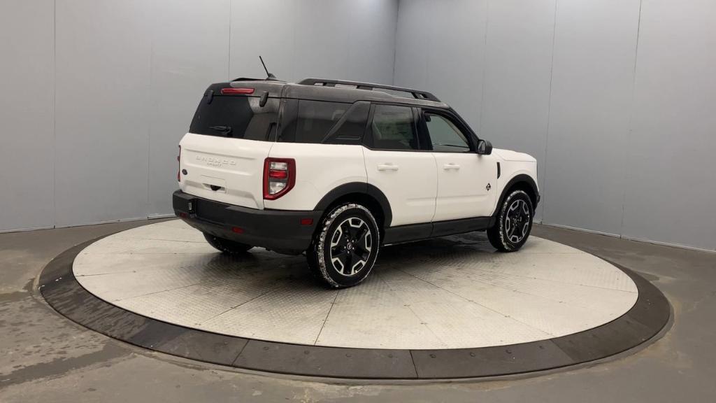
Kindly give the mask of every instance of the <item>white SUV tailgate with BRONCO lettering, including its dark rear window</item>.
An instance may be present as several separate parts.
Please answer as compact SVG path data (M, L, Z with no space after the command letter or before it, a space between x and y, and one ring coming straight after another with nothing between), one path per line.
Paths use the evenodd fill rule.
M278 117L277 98L261 106L253 93L222 95L210 87L180 142L182 191L263 209L263 161L274 145Z

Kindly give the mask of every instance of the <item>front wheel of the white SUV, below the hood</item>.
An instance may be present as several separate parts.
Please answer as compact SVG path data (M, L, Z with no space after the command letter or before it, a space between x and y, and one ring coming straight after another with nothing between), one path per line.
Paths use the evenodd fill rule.
M525 245L532 230L534 207L523 190L512 191L505 197L497 222L488 229L488 240L495 249L514 252Z

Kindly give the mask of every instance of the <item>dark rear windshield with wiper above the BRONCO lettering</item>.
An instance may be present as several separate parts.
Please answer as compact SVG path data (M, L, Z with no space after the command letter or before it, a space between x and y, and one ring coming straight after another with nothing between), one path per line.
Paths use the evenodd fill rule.
M258 102L258 97L205 95L196 109L189 131L208 136L269 140L272 132L276 131L279 100L269 98L263 107Z

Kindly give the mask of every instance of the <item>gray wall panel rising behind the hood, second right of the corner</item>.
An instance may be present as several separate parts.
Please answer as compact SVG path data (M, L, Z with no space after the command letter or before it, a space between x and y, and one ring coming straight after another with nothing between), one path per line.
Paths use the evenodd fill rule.
M544 188L555 0L490 1L480 135L537 158ZM544 203L537 218L541 218Z

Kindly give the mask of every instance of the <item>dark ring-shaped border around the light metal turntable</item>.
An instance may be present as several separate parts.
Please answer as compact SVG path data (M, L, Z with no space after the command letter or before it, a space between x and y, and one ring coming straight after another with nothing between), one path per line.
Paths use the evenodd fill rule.
M475 349L388 350L253 340L173 325L97 298L74 278L72 263L100 238L62 252L44 267L39 290L63 316L93 331L212 364L281 374L352 379L460 379L525 374L604 359L648 341L666 326L671 306L652 283L626 267L639 290L634 306L609 323L542 341Z

